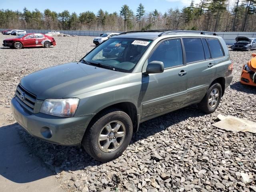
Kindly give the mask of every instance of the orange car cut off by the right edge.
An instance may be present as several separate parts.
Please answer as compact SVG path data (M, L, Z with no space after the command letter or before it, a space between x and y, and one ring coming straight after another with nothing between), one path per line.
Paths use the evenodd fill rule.
M240 82L256 86L256 53L253 53L251 60L243 65Z

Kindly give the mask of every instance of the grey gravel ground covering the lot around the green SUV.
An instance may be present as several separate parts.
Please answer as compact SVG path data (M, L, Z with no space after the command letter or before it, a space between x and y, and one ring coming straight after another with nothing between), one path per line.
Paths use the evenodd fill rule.
M0 35L0 42L7 37ZM79 37L76 60L93 48L92 39ZM26 74L74 61L77 40L56 37L57 46L48 49L1 48L0 108L10 107L16 86ZM242 64L252 52L230 51L234 79L216 112L205 115L193 105L144 122L116 160L102 164L83 149L49 144L22 129L20 135L67 192L256 191L255 134L212 126L218 114L256 122L256 87L239 82ZM11 114L5 117L14 120Z

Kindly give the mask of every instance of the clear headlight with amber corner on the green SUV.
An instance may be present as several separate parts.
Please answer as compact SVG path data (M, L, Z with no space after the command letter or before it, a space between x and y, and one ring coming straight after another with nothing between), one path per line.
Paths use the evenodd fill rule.
M58 117L72 117L76 113L78 103L78 98L46 99L41 106L40 112Z

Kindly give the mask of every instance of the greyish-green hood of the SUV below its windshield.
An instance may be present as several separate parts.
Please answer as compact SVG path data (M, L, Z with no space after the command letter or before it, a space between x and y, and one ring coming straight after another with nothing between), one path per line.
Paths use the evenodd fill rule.
M128 73L73 62L29 74L22 78L21 85L35 94L37 99L45 100L46 98L65 98L66 95L85 88L92 91L98 88L95 86L97 84L105 83L104 85L108 86L106 82L126 75ZM94 87L90 89L91 86Z

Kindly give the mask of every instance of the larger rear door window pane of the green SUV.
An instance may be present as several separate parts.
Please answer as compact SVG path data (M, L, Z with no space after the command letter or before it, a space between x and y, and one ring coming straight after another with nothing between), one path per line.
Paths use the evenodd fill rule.
M204 47L200 38L183 38L187 63L202 61Z

